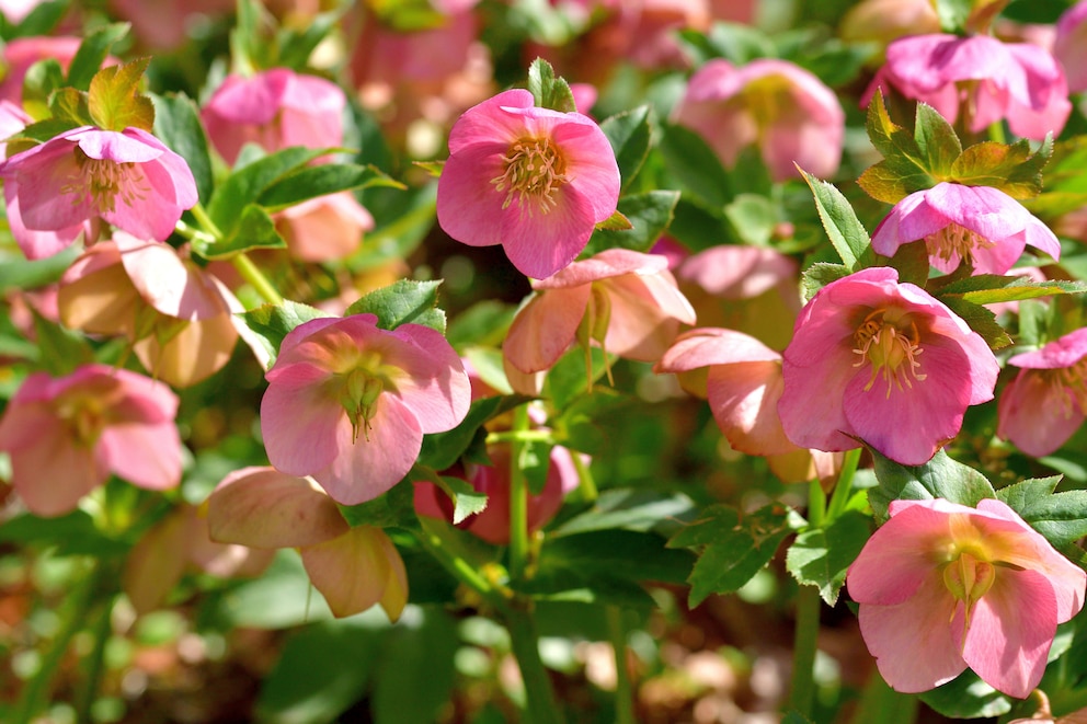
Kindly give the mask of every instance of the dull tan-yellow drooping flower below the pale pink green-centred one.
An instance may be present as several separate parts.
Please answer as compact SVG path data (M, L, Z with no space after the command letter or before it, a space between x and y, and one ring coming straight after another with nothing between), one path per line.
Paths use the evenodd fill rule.
M379 604L396 621L408 604L408 572L389 537L380 528L350 527L309 479L271 468L237 470L208 498L207 524L219 543L297 548L336 617Z

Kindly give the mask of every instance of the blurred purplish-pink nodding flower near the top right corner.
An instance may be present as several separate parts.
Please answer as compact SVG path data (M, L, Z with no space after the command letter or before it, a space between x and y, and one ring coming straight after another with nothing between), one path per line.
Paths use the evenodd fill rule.
M900 38L888 46L865 104L879 87L928 103L951 123L969 108L971 133L1006 119L1017 136L1041 140L1060 134L1072 112L1064 72L1048 50L987 35Z

